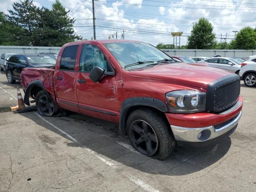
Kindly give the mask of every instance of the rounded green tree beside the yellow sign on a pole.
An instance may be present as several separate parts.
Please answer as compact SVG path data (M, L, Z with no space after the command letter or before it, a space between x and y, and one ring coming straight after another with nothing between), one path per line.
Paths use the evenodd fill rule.
M188 49L211 49L214 46L215 34L212 24L205 18L200 18L188 36Z

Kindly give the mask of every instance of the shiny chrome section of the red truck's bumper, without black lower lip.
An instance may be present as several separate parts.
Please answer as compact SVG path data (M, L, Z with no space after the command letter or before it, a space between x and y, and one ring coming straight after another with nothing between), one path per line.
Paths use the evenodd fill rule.
M219 136L222 136L226 132L232 130L232 128L236 127L240 117L242 115L242 111L234 118L230 120L230 122L222 124L222 126L209 126L203 128L187 128L171 125L172 133L176 141L181 142L205 142Z

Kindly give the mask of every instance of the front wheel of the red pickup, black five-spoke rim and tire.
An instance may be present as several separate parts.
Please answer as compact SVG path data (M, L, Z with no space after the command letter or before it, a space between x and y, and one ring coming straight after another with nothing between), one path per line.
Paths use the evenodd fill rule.
M174 150L176 141L162 116L150 109L133 111L126 122L132 146L140 153L164 160Z

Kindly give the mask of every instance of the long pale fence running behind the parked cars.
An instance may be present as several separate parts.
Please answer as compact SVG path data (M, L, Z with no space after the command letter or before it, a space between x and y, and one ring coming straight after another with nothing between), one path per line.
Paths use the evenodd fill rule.
M17 54L38 54L40 52L52 52L58 54L61 47L33 47L33 46L0 46L0 55L2 53ZM256 55L256 50L204 50L204 49L163 49L170 56L180 55L188 57L212 57L220 55L222 57L240 57Z

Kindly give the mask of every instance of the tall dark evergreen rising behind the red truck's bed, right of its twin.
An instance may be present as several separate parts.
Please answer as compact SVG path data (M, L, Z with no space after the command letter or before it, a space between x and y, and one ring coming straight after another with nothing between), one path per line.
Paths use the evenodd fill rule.
M52 5L52 9L42 8L40 27L37 30L37 44L40 46L62 46L73 42L81 36L74 34L74 18L70 18L59 0Z

